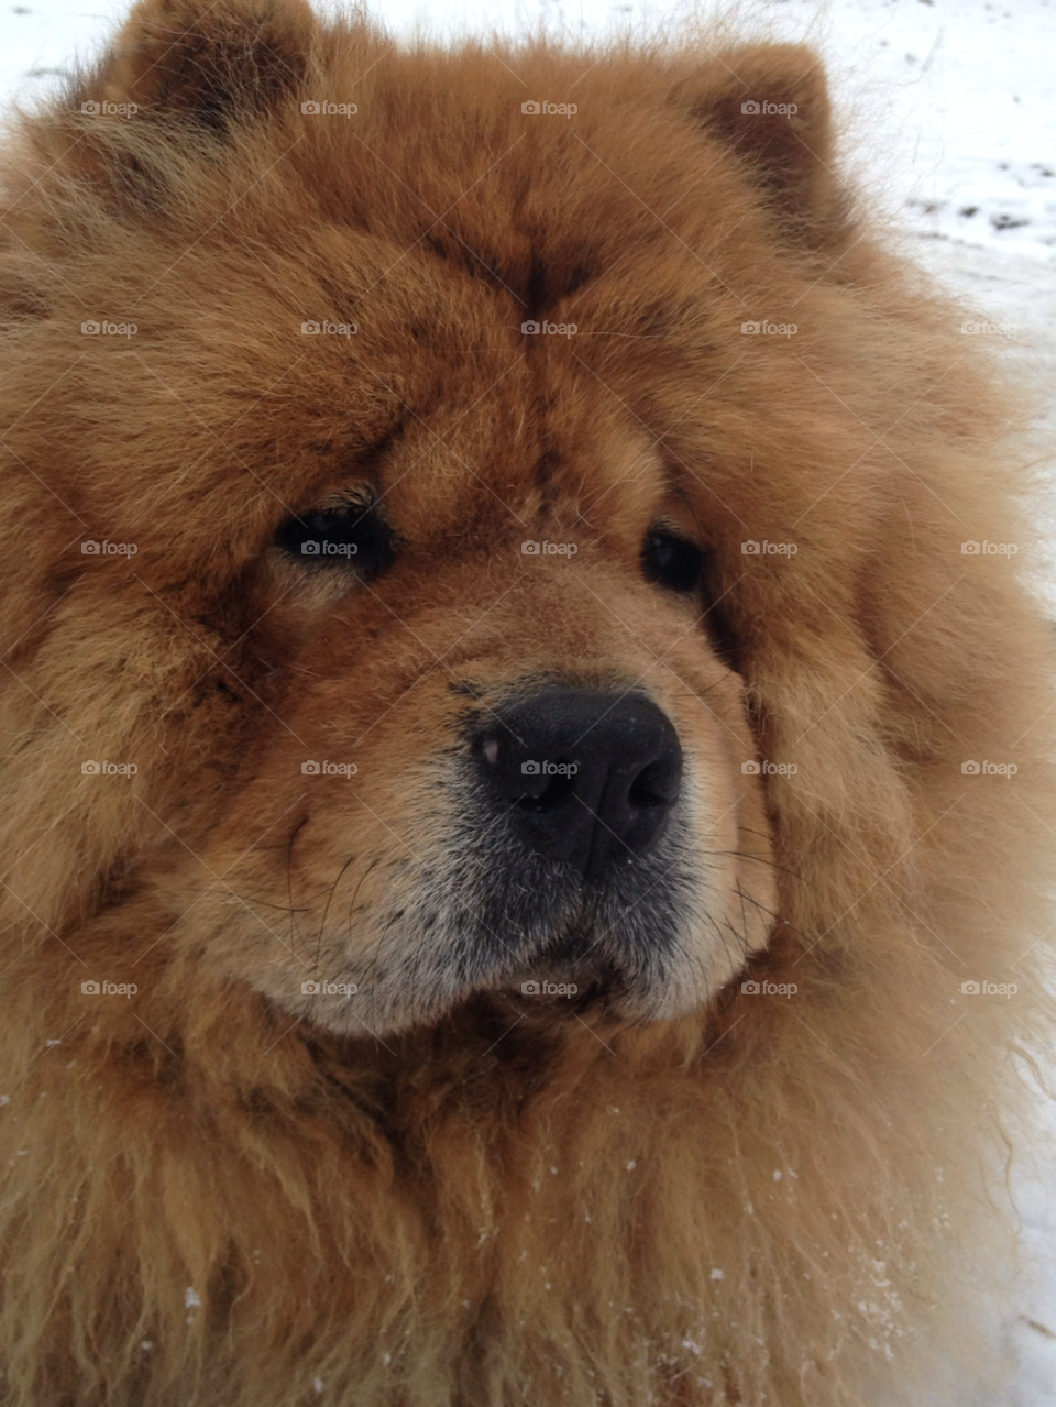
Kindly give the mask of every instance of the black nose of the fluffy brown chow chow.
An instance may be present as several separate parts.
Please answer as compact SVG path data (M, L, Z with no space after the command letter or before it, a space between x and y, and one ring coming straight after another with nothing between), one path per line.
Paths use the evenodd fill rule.
M523 844L588 879L657 844L682 778L678 733L640 694L546 689L498 711L474 751Z

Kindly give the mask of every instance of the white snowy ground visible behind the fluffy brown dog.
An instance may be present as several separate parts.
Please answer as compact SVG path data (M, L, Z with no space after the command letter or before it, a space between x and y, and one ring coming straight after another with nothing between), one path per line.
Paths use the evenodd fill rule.
M51 90L128 10L125 0L1 3L4 107ZM543 21L569 37L679 13L643 0L387 0L373 8L397 34L415 25L517 32ZM807 39L824 53L851 134L845 160L915 259L990 322L1017 329L1003 353L1042 398L1041 449L1056 467L1056 0L751 0L734 13L749 30ZM1056 488L1042 511L1056 526ZM1052 568L1038 584L1056 602ZM994 1275L993 1324L1008 1379L996 1400L965 1383L944 1407L1056 1407L1056 1117L1041 1099L1036 1138L1018 1158L1022 1265L1011 1287Z

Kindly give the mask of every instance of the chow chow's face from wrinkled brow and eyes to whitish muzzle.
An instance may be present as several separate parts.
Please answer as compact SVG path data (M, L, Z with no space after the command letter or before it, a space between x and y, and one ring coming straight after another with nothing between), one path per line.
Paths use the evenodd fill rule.
M259 564L288 688L207 860L247 899L224 905L229 971L340 1031L481 989L674 1016L773 912L679 477L572 348L522 349L512 300L481 303L478 378L404 412Z

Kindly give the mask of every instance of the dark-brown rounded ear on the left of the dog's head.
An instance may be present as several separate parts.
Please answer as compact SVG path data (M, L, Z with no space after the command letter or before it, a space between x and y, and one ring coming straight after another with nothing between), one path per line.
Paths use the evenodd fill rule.
M302 87L314 31L305 0L141 0L86 101L222 132Z

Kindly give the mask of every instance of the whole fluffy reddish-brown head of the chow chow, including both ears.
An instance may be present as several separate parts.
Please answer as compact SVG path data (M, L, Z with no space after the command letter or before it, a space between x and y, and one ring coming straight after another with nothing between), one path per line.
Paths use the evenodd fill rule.
M786 861L855 768L901 844L869 636L915 605L859 588L911 369L862 352L813 59L517 63L148 4L18 156L35 912L149 885L337 1031L707 1003L797 765Z

